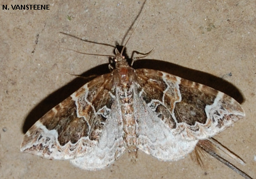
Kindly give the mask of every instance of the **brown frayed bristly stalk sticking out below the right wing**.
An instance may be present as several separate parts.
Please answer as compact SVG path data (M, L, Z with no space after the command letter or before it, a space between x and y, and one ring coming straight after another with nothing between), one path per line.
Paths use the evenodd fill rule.
M213 142L212 142L213 141ZM246 179L253 179L251 176L247 175L245 172L243 172L241 169L237 168L235 165L231 164L228 160L222 158L220 156L220 152L222 151L219 147L220 147L220 143L217 140L212 140L212 139L207 139L207 140L200 140L197 143L197 147L201 148L202 150L204 150L205 152L209 153L212 157L214 157L215 159L219 160L220 162L222 162L222 164L225 164L226 166L228 166L229 168L233 169L237 174L243 176ZM221 145L221 148L223 147L223 145ZM234 156L236 156L236 158L239 158L236 154L234 154L234 152L231 152L229 149L227 149L226 147L223 147L226 149L226 151L222 151L224 153L226 153L227 151L229 151L228 153L233 153ZM226 154L227 156L227 154ZM228 155L229 156L229 155ZM240 159L240 158L239 158ZM242 159L240 159L242 160Z

